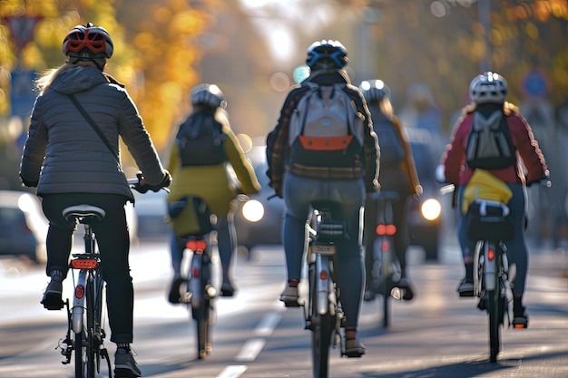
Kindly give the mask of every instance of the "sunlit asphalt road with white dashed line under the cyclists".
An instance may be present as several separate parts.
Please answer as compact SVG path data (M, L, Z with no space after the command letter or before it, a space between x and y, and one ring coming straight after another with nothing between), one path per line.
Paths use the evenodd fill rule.
M237 259L240 291L217 300L213 353L204 361L195 359L195 325L187 309L165 299L166 248L155 240L132 248L133 347L144 377L311 377L302 310L285 309L278 301L285 277L281 248L261 248L251 261ZM532 254L525 296L530 327L505 328L504 353L490 363L487 316L475 299L455 293L463 275L455 241L446 241L437 263L426 263L418 249L409 253L415 299L392 305L388 329L381 326L379 302L364 303L360 335L367 354L347 359L332 350L331 377L568 377L567 256ZM0 260L0 377L73 376L73 366L62 364L56 349L66 331L64 312L39 305L46 283L43 267ZM114 345L105 344L113 354ZM108 377L106 368L101 376Z

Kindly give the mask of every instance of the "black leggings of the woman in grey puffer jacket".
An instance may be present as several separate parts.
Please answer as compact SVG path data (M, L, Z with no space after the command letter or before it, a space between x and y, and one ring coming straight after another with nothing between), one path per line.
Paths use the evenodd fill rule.
M93 232L101 252L101 272L106 282L109 325L114 343L132 343L132 310L134 293L128 263L130 238L124 205L127 198L117 194L62 193L45 194L43 208L49 219L47 232L46 273L61 270L67 274L73 246L73 228L63 217L64 208L89 204L103 208L102 221L93 224Z

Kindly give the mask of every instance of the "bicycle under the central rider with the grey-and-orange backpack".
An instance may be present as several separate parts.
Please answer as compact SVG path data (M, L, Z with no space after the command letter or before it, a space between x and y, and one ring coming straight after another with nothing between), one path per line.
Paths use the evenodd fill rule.
M328 377L329 348L340 345L345 355L341 328L344 328L341 308L336 254L338 240L348 237L345 221L335 218L332 203L312 203L308 225L308 304L304 305L305 329L311 331L313 375Z

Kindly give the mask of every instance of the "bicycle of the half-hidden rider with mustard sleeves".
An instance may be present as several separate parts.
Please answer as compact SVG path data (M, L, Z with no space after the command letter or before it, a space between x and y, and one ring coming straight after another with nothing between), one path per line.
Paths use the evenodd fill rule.
M393 202L400 200L400 195L394 190L381 190L373 193L370 199L377 203L377 227L376 235L367 241L373 243L372 280L367 283L367 288L383 296L383 326L387 327L390 324L390 298L401 300L406 296L406 289L397 286L401 267L394 244L397 226Z

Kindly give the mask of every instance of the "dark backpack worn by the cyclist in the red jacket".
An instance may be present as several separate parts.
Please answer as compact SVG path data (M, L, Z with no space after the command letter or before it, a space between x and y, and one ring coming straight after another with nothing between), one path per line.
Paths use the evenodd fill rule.
M500 170L516 163L513 138L503 111L495 111L488 118L475 111L465 160L470 168L482 170Z

